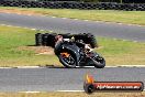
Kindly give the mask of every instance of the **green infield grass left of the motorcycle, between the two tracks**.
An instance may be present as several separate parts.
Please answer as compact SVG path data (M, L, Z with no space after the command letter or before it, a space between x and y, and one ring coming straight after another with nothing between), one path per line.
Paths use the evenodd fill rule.
M0 66L57 64L54 55L36 55L32 50L20 50L21 46L34 45L36 31L0 26Z

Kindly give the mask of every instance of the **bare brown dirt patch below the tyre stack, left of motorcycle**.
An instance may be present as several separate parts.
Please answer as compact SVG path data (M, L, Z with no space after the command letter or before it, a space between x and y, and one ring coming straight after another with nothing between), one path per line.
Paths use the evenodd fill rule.
M20 46L20 51L34 51L36 55L54 55L54 48L49 46Z

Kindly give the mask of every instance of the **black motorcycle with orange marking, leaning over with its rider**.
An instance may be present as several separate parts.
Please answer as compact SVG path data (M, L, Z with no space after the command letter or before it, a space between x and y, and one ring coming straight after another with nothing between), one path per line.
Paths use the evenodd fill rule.
M105 66L105 60L101 55L93 52L89 44L82 40L75 40L74 36L64 39L63 35L57 35L54 52L59 62L68 68L77 66L103 68Z

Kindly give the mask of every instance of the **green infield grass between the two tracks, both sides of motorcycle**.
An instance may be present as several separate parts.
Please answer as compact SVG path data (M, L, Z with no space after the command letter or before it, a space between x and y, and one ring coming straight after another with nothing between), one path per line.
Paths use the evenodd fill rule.
M63 66L54 55L37 55L34 50L21 48L35 44L34 30L0 25L0 66ZM98 37L99 50L107 60L107 65L145 64L145 43Z

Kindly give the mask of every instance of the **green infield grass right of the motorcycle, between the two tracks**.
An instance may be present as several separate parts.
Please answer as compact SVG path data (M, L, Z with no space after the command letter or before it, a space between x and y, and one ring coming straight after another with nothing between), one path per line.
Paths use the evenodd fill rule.
M107 64L145 64L145 43L100 37L99 44L102 46L102 48L98 50L98 52L105 57Z

